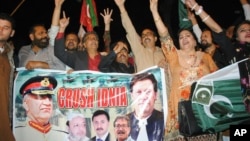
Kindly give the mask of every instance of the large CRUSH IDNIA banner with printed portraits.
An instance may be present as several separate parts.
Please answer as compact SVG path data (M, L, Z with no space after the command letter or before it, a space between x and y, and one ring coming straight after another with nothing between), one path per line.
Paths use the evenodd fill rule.
M140 140L146 126L143 138L160 141L166 96L158 67L137 74L19 69L13 132L16 141Z

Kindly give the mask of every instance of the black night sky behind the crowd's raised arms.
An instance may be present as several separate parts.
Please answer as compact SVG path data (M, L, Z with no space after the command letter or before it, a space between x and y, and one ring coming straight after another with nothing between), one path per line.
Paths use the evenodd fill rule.
M22 0L0 0L0 12L12 13ZM236 17L242 14L239 0L197 0L203 8L223 27L230 25ZM79 19L81 11L81 0L66 0L63 10L70 17L70 25L67 31L77 32L79 29ZM114 0L96 0L99 26L94 30L102 38L104 23L100 16L104 8L113 9L113 22L111 23L112 42L125 38L126 32L121 25L120 13ZM126 0L126 9L138 33L145 27L155 29L151 12L149 10L149 0ZM54 0L25 0L19 9L13 14L16 20L16 34L12 39L16 50L21 46L30 43L28 37L29 27L34 23L44 23L50 27ZM159 0L159 11L163 21L168 25L175 37L178 30L177 0ZM201 23L201 27L203 27ZM102 46L102 41L100 42Z

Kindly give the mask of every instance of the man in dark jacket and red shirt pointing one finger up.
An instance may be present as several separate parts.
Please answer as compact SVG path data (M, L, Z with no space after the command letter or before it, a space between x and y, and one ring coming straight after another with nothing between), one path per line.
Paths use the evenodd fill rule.
M99 37L95 31L89 31L82 38L84 51L65 51L64 33L69 25L69 17L63 13L63 18L59 21L59 32L55 40L55 56L73 70L99 71L98 65L103 55L98 51Z

